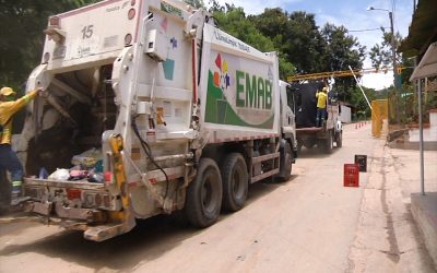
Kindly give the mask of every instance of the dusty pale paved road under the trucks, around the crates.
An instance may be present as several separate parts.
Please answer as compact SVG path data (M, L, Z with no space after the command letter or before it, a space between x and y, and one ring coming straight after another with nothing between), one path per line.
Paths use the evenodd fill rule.
M400 261L412 261L412 272L432 272L417 230L410 228L415 237L402 234L414 242L402 256L404 246L395 245L394 226L387 225L391 204L381 206L381 191L369 192L382 181L374 171L382 174L378 166L390 164L380 162L383 142L373 139L369 128L346 127L343 147L329 156L303 149L290 181L253 185L241 211L203 230L160 216L96 244L55 226L0 224L0 272L397 272L403 270L386 265ZM343 164L355 154L368 155L369 173L361 174L359 188L343 188ZM381 214L363 216L374 209ZM375 218L382 224L374 225ZM369 234L366 227L378 230Z

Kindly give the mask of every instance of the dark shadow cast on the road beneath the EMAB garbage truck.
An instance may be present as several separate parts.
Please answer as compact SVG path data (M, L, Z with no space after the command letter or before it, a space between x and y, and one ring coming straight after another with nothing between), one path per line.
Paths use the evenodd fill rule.
M288 181L258 182L249 188L246 206L269 194ZM244 209L243 209L244 210ZM223 213L220 221L232 214ZM184 240L194 237L206 229L194 229L176 223L173 217L158 215L139 221L130 233L103 242L88 241L81 232L63 230L27 245L10 245L0 250L0 256L16 256L36 252L50 258L58 258L73 264L99 270L130 271L142 263L158 259L165 252L180 245ZM25 236L24 234L21 236ZM27 235L28 236L28 235Z

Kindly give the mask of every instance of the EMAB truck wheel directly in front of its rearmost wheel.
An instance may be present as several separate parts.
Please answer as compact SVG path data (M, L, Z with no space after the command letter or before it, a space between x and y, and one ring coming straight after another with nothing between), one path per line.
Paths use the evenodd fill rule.
M245 158L232 153L224 159L222 167L223 207L236 212L243 207L247 198L248 174Z

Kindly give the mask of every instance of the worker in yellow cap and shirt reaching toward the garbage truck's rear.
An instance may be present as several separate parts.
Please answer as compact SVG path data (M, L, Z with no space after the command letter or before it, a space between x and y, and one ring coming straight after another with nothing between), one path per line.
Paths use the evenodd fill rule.
M11 173L11 205L17 205L28 198L22 195L23 166L11 147L12 118L15 112L27 105L43 88L27 93L15 100L16 93L11 87L0 90L0 169Z

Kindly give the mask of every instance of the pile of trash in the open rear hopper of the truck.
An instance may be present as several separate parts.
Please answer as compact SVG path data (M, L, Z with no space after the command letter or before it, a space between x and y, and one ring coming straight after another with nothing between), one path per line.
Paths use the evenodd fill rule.
M88 181L103 183L105 176L103 173L102 150L90 149L82 154L71 158L72 168L58 168L50 175L43 167L39 170L39 179L51 179L62 181Z

